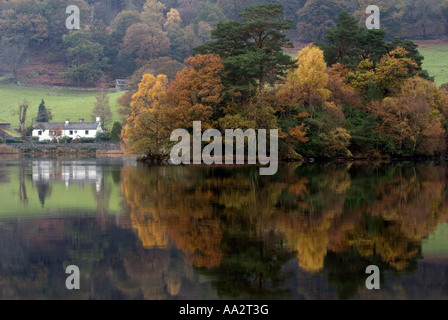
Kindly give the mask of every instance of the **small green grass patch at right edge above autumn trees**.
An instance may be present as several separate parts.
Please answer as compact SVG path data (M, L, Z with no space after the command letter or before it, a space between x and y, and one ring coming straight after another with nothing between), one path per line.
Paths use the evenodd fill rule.
M419 49L425 57L423 69L435 77L437 86L448 82L448 46L440 45L434 48Z

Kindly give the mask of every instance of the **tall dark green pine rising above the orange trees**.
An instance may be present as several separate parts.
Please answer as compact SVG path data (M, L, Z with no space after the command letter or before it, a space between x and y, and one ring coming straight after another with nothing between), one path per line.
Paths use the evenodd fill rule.
M290 29L292 22L284 19L283 6L277 4L247 7L239 17L242 22L218 23L211 34L213 41L195 48L194 53L219 54L228 91L250 97L255 94L251 88L263 90L294 65L283 52L291 46L283 31Z

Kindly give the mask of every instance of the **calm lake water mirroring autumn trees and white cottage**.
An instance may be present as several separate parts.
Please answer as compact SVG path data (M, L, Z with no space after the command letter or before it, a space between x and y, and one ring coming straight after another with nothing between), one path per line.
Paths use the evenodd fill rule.
M448 299L444 163L258 172L0 158L0 299Z

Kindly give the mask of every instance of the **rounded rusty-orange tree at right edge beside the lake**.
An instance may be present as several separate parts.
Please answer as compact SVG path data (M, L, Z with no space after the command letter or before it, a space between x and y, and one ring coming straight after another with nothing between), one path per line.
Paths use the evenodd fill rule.
M394 97L373 102L384 150L402 156L436 155L445 149L448 99L428 80L408 79Z

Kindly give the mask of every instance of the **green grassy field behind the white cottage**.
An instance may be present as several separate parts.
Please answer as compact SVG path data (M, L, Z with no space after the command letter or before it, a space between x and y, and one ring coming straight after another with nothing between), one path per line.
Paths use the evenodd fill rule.
M117 99L122 93L110 93L109 101L113 120L119 120ZM53 122L63 122L65 119L78 121L84 118L90 121L90 115L95 104L95 92L57 91L41 88L19 87L8 83L7 79L0 78L0 119L11 123L12 128L19 126L19 117L15 115L19 103L28 100L28 122L36 117L42 99L53 113ZM27 123L28 124L28 123ZM111 127L111 124L109 125Z

